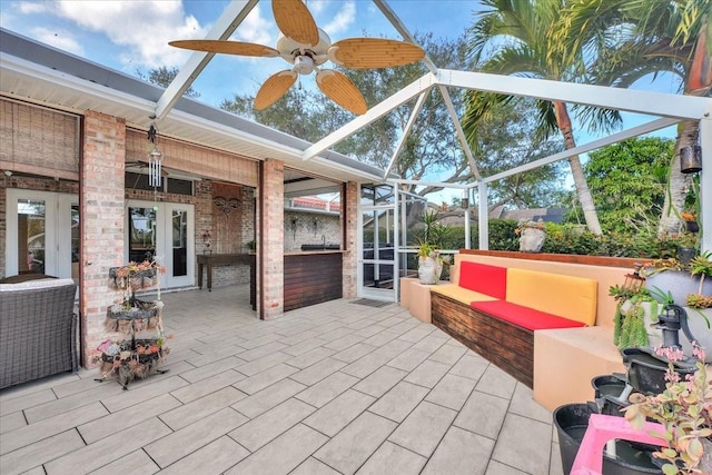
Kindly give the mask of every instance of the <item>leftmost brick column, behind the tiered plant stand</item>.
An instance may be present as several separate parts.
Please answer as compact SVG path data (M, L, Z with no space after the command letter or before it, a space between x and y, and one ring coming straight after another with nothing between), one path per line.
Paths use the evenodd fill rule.
M109 268L123 264L126 121L87 111L80 161L82 366L92 367L106 338L107 307L117 298Z

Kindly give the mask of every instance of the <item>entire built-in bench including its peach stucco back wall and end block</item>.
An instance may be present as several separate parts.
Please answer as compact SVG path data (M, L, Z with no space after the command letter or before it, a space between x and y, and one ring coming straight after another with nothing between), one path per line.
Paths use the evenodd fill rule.
M462 249L451 268L451 284L431 286L431 317L433 324L533 387L534 399L553 410L591 399L593 377L624 372L613 345L615 300L609 288L623 284L639 261ZM467 263L500 270L482 274L486 268ZM586 287L592 281L593 294Z

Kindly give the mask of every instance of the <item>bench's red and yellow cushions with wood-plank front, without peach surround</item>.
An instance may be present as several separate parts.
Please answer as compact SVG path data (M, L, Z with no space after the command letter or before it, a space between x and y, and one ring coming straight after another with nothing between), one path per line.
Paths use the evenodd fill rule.
M433 324L534 387L534 331L593 325L597 283L463 261L457 284L431 289Z

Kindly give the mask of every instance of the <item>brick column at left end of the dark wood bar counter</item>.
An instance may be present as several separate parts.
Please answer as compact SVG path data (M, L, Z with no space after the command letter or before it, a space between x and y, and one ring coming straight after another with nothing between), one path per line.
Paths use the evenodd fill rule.
M263 164L263 209L261 209L261 251L264 267L263 316L266 320L284 313L285 305L285 263L283 224L285 207L284 177L285 166L278 160L265 160Z

